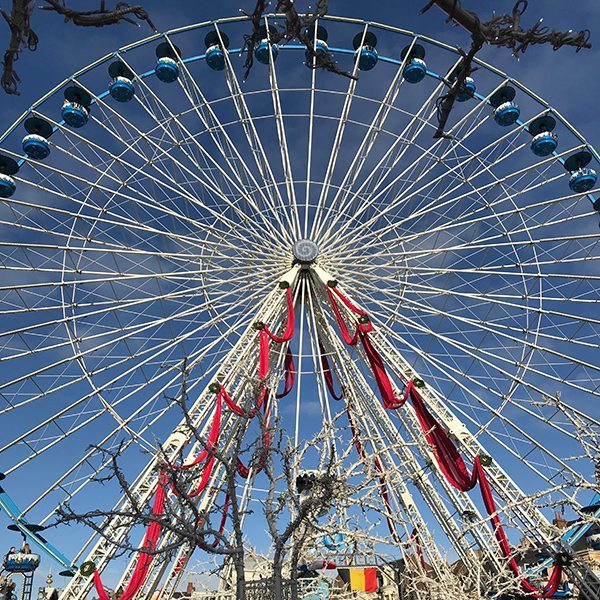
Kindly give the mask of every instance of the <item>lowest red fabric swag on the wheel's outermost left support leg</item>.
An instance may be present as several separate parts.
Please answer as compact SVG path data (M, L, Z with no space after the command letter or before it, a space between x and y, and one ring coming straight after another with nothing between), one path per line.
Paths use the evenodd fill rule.
M160 519L164 513L166 484L167 475L165 473L161 473L158 478L156 492L154 494L154 502L152 504L152 516L156 517L157 519ZM160 536L160 531L160 521L155 521L148 525L146 528L146 535L144 536L144 540L142 542L142 550L153 551L156 548L156 542ZM153 555L151 553L143 551L140 552L136 565L133 569L131 579L123 591L120 600L132 600L133 597L140 591L144 585L144 581L146 581L146 577L148 576L152 559ZM100 600L110 600L109 595L104 589L104 585L102 584L102 579L100 578L98 570L94 571L94 585Z

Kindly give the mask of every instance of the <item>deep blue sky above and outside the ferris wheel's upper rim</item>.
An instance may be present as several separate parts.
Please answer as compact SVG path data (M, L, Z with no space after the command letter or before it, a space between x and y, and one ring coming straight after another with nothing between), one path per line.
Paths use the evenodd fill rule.
M418 16L418 10L425 0L409 3L381 2L366 5L363 2L331 0L331 13L371 21L390 23L405 29L441 39L450 44L468 45L468 36L458 28L445 23L444 15L432 8L426 15ZM238 14L241 7L251 10L253 2L225 0L209 2L144 2L159 30L185 25L191 22L216 19ZM513 2L470 2L477 4L483 18L491 12L492 6L499 11L510 11ZM305 6L300 0L300 8ZM367 11L368 6L368 11ZM398 6L402 6L399 9ZM525 25L543 17L549 26L560 29L592 29L592 42L600 36L600 11L592 0L577 3L576 11L565 10L565 3L559 0L531 3L525 15ZM150 33L142 25L140 28L121 25L106 29L80 29L72 25L62 25L60 17L37 11L33 18L33 28L40 37L40 45L35 53L23 52L17 63L23 80L20 96L0 96L0 116L3 128L10 125L39 96L52 88L73 71L80 69L92 60L119 46L123 46ZM0 30L1 31L1 30ZM4 31L6 34L6 30ZM5 38L3 38L5 39ZM234 45L238 45L232 40ZM600 44L600 42L599 42ZM198 39L199 48L202 40ZM575 54L572 49L553 52L551 48L531 48L517 61L510 51L485 49L480 57L500 67L521 80L560 110L585 137L594 144L598 129L597 98L600 84L596 76L598 50ZM241 65L240 65L241 69Z

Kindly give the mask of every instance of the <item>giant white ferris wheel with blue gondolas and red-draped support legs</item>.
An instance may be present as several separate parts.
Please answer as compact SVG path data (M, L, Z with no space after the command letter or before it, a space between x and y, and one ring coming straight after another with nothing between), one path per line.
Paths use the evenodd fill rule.
M598 154L479 60L434 138L453 48L327 17L314 47L344 77L271 44L276 22L246 81L245 17L187 26L75 73L0 137L0 507L84 598L129 532L42 530L65 504L127 506L106 451L157 502L161 456L202 450L186 423L227 448L260 401L298 448L355 449L386 552L418 536L440 577L484 557L528 593L597 594L573 547L600 514ZM184 360L190 421L168 400ZM204 459L208 506L224 480ZM240 471L260 498L260 469ZM190 557L134 556L117 585L168 598Z

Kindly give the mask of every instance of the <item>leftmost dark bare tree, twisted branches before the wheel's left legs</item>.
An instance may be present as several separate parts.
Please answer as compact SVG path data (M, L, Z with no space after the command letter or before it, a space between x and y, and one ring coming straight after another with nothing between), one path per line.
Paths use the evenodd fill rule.
M169 482L170 494L165 500L164 512L155 515L146 503L141 503L133 493L131 484L127 480L121 468L121 447L116 450L98 448L98 451L108 457L110 463L109 474L99 479L99 483L116 480L120 492L128 499L124 509L95 509L84 513L77 512L68 504L58 509L58 518L53 524L80 523L94 530L100 536L105 536L103 524L109 519L119 519L122 530L129 532L136 527L148 527L152 523L160 523L161 531L168 532L169 543L157 545L156 548L139 548L133 543L128 535L122 539L109 539L118 549L118 553L144 553L161 555L168 559L182 546L189 548L189 554L198 549L214 556L222 557L231 561L235 577L236 598L244 600L246 597L245 587L245 543L242 530L242 522L245 509L240 503L237 494L238 458L242 453L250 450L254 456L263 452L261 442L250 444L243 448L243 420L238 420L236 431L232 432L233 444L227 451L221 451L218 445L213 446L200 433L198 428L189 417L187 404L187 379L189 370L187 361L184 360L181 368L181 392L177 398L169 397L168 400L176 403L185 417L186 427L195 440L207 453L208 457L214 458L215 468L222 470L222 483L211 489L206 488L204 493L216 494L224 491L226 500L223 504L216 502L208 503L208 509L199 508L199 497L190 494L190 489L197 483L202 469L181 469L173 465L166 456L157 462L157 475ZM234 428L236 426L234 425ZM183 457L181 457L183 459ZM210 460L210 458L208 460ZM254 459L253 459L254 460ZM257 459L258 460L258 459ZM206 464L204 462L203 464ZM224 518L227 515L231 534L224 532ZM229 582L227 582L229 583Z

